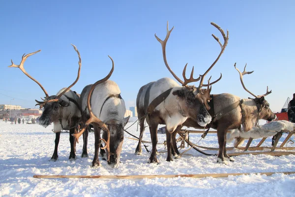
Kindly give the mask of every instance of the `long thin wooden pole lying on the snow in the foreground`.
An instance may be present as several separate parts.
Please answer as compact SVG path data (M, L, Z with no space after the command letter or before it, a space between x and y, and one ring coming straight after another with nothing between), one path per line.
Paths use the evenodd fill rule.
M261 174L270 176L275 173L295 174L291 172L252 172L252 173L221 173L221 174L163 174L163 175L34 175L34 178L99 178L99 179L143 179L143 178L175 178L175 177L189 177L189 178L223 178L228 176L239 176L249 174Z

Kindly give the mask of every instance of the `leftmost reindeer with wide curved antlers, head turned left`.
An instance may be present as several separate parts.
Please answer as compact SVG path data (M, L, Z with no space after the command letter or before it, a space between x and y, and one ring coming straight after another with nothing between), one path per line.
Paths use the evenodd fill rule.
M75 51L78 54L79 57L79 69L78 69L78 76L74 83L72 83L67 88L62 88L57 95L49 96L46 92L46 90L43 88L43 86L33 77L27 73L27 71L24 68L24 63L27 60L27 58L31 55L34 55L41 50L38 50L33 53L29 53L27 55L23 55L22 61L20 65L14 65L12 60L11 66L8 67L19 67L30 79L32 79L34 82L36 82L40 88L45 93L43 101L38 101L36 105L40 105L40 109L44 107L44 111L39 119L39 124L43 127L47 127L49 124L54 124L53 132L56 133L56 139L55 139L55 149L54 153L51 157L52 161L57 161L58 159L58 146L59 146L59 137L61 130L69 130L70 131L70 144L71 144L71 152L69 159L75 160L76 159L76 141L74 140L74 137L71 135L75 132L75 126L79 123L79 119L81 118L81 112L80 112L80 98L76 93L70 90L71 87L73 87L79 77L80 77L80 70L81 70L81 57L78 49L75 45L72 44Z

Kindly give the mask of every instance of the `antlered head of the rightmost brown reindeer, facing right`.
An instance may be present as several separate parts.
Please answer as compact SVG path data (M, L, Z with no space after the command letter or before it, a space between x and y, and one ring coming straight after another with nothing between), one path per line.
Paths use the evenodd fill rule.
M236 68L236 63L235 63L234 66ZM253 99L253 100L254 100L254 102L255 102L255 104L257 106L257 112L258 112L257 119L258 120L259 119L264 119L264 120L267 120L267 121L273 121L273 120L275 120L276 119L276 115L270 110L269 103L265 99L265 97L271 93L271 90L268 91L268 86L266 88L266 94L260 95L260 96L254 95L253 93L251 93L245 87L244 82L243 82L243 75L244 74L251 74L252 72L254 72L254 71L247 72L246 71L246 66L247 66L247 64L245 65L243 72L240 72L239 69L237 69L237 68L236 68L236 70L239 73L240 81L241 81L241 84L242 84L244 90L247 91L249 94L251 94L253 97L255 97L255 99Z

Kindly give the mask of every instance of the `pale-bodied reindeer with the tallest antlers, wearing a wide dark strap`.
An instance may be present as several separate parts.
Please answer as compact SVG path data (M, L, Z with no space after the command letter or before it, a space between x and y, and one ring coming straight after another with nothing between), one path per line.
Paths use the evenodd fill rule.
M143 86L137 95L136 105L138 109L138 117L140 124L140 140L138 146L136 148L135 154L141 154L141 140L144 131L144 122L147 119L147 123L149 126L149 131L152 140L152 151L149 157L148 163L158 163L156 158L156 144L157 144L157 127L158 124L166 124L166 133L167 133L167 160L168 162L173 161L171 157L171 135L170 133L174 133L174 131L179 130L182 127L182 124L189 118L193 122L198 125L202 125L205 127L207 124L211 122L211 115L208 113L208 109L210 109L207 104L207 100L210 100L209 97L211 91L211 85L218 82L222 75L220 75L219 79L210 83L210 79L208 80L208 84L203 84L204 78L210 69L217 63L221 54L225 50L225 47L228 43L228 32L227 36L223 30L214 23L211 23L215 28L217 28L224 37L224 44L221 44L219 39L212 34L212 36L218 41L221 46L221 52L219 53L217 59L214 63L207 69L207 71L200 75L199 78L193 78L194 67L191 71L190 78L187 79L185 77L186 66L184 66L182 75L184 78L184 82L180 80L177 75L171 70L170 66L166 60L166 43L172 32L173 28L169 31L168 22L167 22L167 35L164 41L159 39L156 34L156 39L162 45L162 52L164 63L168 70L172 73L172 75L177 79L177 81L182 85L179 86L174 80L169 78L162 78L155 82L150 82L147 85ZM211 77L210 77L211 78ZM201 79L201 80L200 80ZM199 87L188 86L188 83L197 82L200 80ZM202 87L206 87L207 90L202 90ZM164 96L163 96L164 95ZM157 101L158 100L158 101ZM156 104L155 104L156 103Z

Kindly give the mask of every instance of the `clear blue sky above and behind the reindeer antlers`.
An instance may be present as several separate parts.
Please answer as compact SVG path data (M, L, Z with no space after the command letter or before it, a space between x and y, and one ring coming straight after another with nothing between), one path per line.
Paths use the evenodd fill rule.
M231 93L251 97L243 90L234 68L255 70L244 76L246 87L280 111L295 93L295 1L294 0L3 0L0 5L0 104L33 108L44 97L40 87L19 68L8 68L10 59L19 64L24 53L41 49L28 58L25 68L49 95L55 95L76 78L78 57L82 69L78 83L83 88L107 75L110 55L115 62L111 80L117 82L126 107L135 106L143 85L162 77L173 78L164 65L161 45L166 23L175 27L167 44L167 60L182 77L203 74L220 52L211 33L221 34L210 22L229 30L229 43L218 63L208 73L213 94ZM198 86L198 82L196 84ZM10 100L15 98L14 100Z

